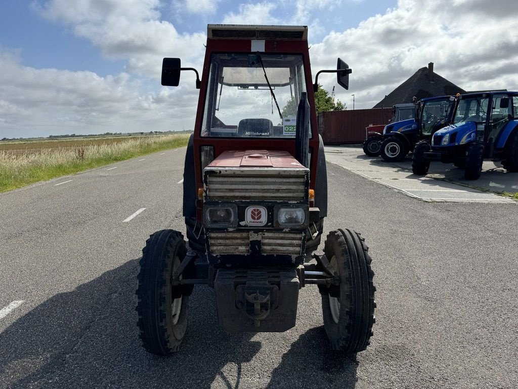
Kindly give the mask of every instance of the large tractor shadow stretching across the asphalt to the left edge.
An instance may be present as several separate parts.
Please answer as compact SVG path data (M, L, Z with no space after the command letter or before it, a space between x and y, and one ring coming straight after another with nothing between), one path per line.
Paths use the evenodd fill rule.
M138 259L127 261L49 298L6 328L0 334L0 388L240 387L241 366L261 342L250 341L254 334L220 329L209 287L194 289L178 353L159 357L143 350L137 272Z

